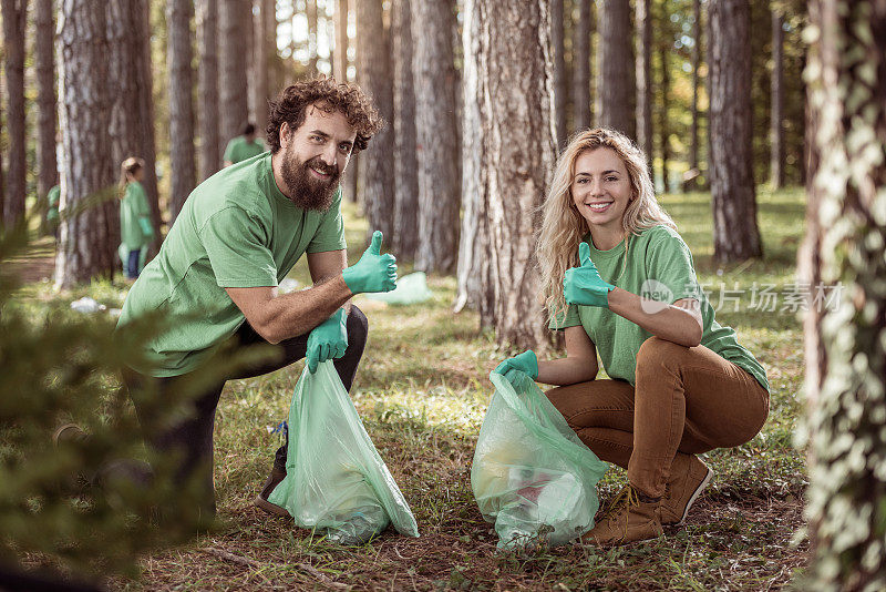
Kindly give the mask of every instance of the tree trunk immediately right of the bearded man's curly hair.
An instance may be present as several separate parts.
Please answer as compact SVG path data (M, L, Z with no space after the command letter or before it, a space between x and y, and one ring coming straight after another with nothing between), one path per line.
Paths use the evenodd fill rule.
M393 84L389 39L382 22L381 0L357 2L357 68L360 86L389 122L360 154L360 192L369 218L369 233L381 231L390 241L394 225Z

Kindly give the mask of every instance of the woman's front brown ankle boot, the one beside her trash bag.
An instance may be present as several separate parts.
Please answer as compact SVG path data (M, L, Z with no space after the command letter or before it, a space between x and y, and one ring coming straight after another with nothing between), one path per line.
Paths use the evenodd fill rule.
M662 532L659 506L661 499L645 498L627 484L581 542L608 547L655 539Z

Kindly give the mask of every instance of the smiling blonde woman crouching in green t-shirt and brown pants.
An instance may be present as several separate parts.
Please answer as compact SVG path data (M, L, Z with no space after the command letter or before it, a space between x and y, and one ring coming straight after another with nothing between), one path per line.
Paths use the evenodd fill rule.
M547 396L569 426L627 469L628 484L583 540L658 537L662 524L683 522L711 479L697 455L762 428L765 370L714 320L646 156L622 134L588 130L570 141L544 204L537 256L550 328L565 331L567 355L537 360L529 350L496 371L562 385ZM598 354L608 380L597 379Z

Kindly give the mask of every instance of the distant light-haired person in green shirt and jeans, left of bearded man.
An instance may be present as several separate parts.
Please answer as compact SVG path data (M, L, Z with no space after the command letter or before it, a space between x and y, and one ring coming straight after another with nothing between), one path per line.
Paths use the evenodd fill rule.
M123 161L120 173L120 258L127 279L138 277L142 249L154 239L151 208L142 187L144 174L142 159L131 156Z

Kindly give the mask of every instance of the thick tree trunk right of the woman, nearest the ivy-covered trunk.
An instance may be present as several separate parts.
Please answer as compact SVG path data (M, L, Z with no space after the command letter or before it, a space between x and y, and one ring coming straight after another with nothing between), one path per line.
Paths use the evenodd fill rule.
M714 259L762 255L751 149L751 45L748 0L711 0L710 175Z

